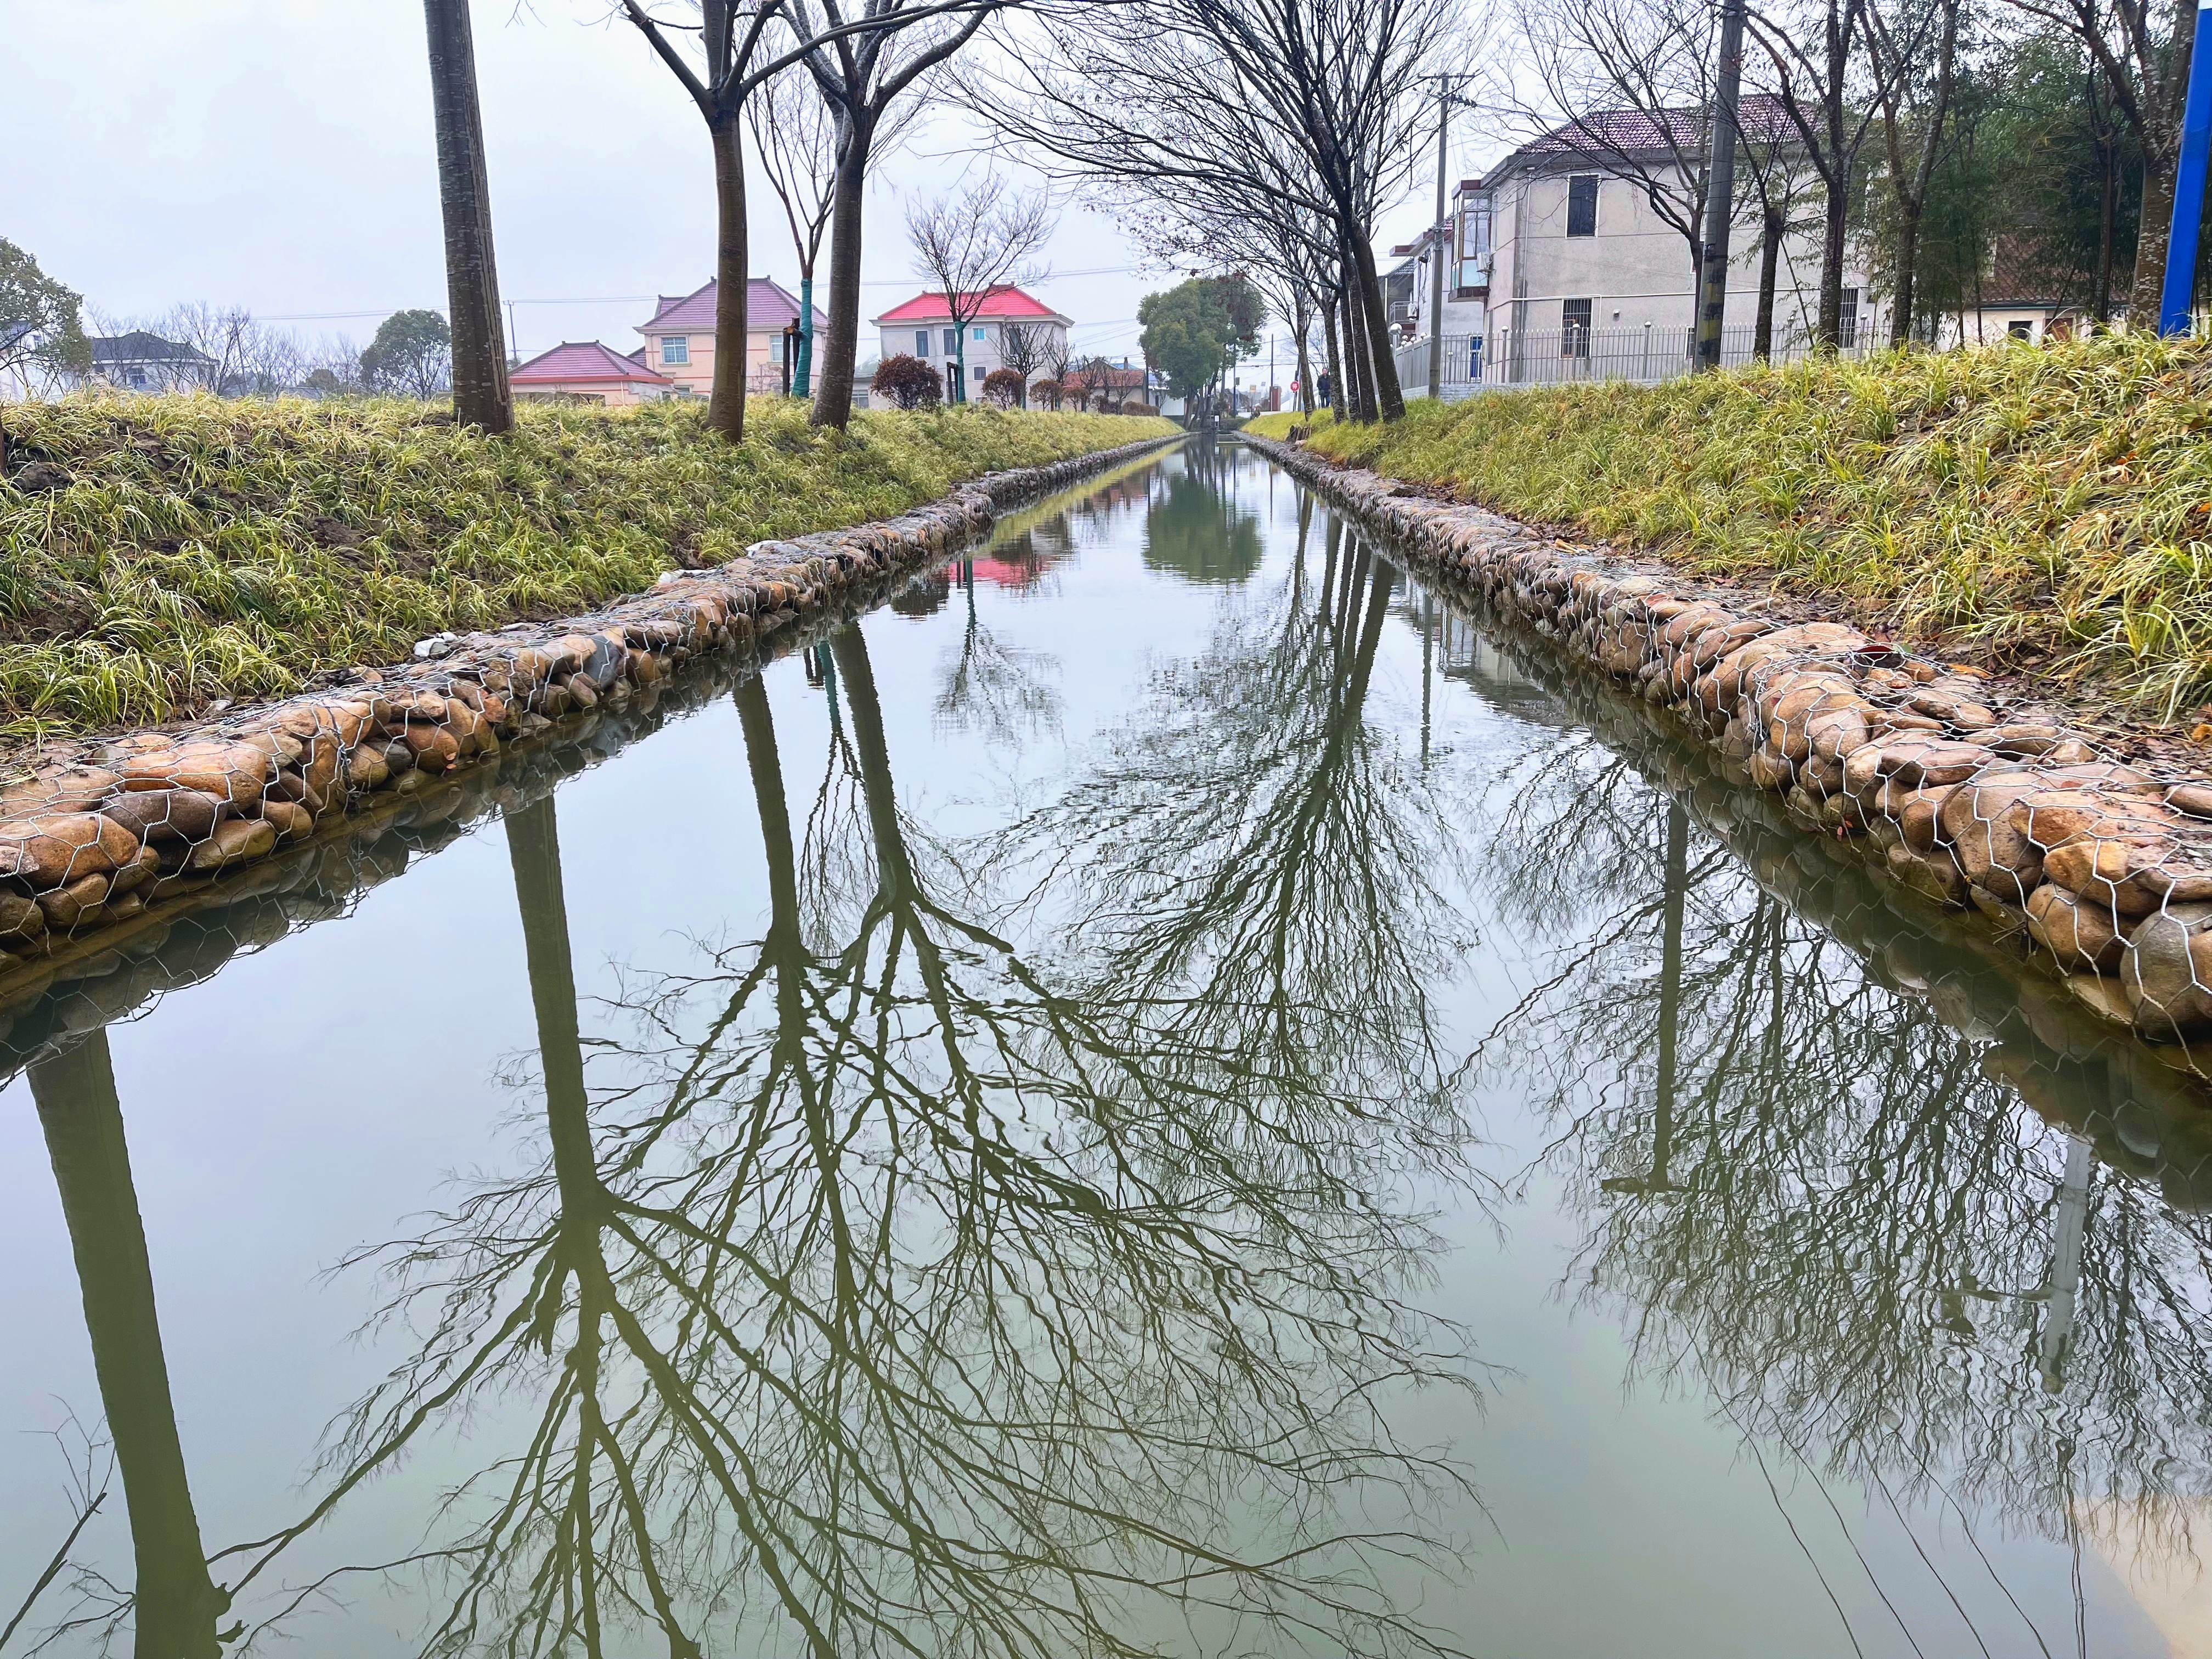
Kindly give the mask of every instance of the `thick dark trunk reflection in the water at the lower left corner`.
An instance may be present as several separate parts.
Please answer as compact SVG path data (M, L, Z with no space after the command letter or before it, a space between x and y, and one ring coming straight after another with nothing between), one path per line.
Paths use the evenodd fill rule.
M215 1621L230 1597L208 1577L184 1471L108 1033L95 1031L75 1048L33 1064L31 1099L62 1194L93 1376L131 1509L133 1652L137 1659L217 1659Z

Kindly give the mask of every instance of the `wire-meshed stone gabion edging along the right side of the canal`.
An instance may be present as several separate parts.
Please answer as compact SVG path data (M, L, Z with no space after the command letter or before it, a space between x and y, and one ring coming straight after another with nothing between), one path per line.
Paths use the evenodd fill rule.
M2128 765L1980 670L1847 624L1763 617L1486 509L1243 440L1413 562L1677 710L1807 830L2020 931L2090 1011L2194 1042L2188 1064L2212 1073L2212 779Z

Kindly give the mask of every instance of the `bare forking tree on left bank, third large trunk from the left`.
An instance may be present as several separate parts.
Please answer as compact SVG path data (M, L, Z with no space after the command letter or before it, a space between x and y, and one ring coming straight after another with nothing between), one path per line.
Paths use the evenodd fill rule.
M885 119L900 95L967 46L984 20L1022 0L783 0L823 102L836 113L836 179L830 201L830 343L814 425L852 422L852 369L860 352L860 195ZM818 11L816 11L818 7Z

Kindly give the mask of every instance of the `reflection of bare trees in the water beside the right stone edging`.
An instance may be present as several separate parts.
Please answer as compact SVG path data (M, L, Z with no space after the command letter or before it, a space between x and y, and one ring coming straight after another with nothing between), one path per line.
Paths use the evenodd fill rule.
M1878 889L1807 878L1803 836L1756 825L1683 847L1681 799L1725 799L1646 741L1670 799L1606 739L1559 734L1500 787L1486 889L1548 967L1482 1066L1548 1079L1540 1168L1588 1219L1571 1279L1628 1312L1632 1376L1710 1389L1754 1453L1900 1520L2185 1557L2212 1491L2212 1225L2093 1168L1971 1009L1931 1018L1761 883L1840 909Z

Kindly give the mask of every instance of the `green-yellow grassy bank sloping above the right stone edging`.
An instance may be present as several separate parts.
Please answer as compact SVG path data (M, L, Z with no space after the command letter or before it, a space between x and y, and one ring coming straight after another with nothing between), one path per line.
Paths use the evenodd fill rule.
M1296 416L1252 429L1281 438ZM2212 695L2212 347L2143 334L1420 403L1312 447L2172 719Z

